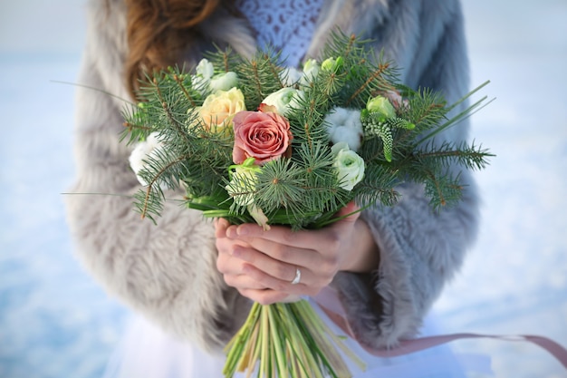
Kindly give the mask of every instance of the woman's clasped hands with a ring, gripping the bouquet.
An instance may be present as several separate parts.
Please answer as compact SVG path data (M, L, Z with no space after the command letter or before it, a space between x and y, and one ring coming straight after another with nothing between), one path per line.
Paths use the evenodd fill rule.
M351 203L338 217L356 210ZM319 230L292 231L255 224L231 226L216 221L216 267L226 284L260 304L284 301L290 295L314 296L340 270L370 272L378 267L379 252L370 229L357 212ZM297 285L292 281L301 271Z

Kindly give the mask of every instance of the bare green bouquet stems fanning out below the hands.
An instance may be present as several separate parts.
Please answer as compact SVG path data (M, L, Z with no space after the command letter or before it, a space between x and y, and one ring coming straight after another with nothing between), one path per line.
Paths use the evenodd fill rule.
M226 344L223 373L226 378L237 372L246 372L246 378L351 377L337 347L364 369L308 301L255 303L245 324Z

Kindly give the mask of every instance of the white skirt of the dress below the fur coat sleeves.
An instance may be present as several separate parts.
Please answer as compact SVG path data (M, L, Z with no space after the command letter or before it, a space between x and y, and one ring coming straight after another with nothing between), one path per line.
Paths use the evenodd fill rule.
M344 334L314 301L311 302L322 320L336 334ZM426 319L422 334L436 334L435 325L430 318ZM492 375L487 356L455 354L448 345L384 358L368 354L351 338L345 343L366 363L366 369L361 371L344 357L353 378L466 378L468 373ZM225 358L222 355L207 354L194 345L165 334L143 318L136 317L132 319L102 378L224 378L224 364ZM235 375L235 378L244 377L245 373Z

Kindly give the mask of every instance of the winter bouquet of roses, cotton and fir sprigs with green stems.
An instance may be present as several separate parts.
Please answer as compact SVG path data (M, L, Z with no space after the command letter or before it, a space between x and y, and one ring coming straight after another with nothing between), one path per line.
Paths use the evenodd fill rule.
M406 181L423 184L442 211L462 189L449 165L482 169L491 156L435 139L483 104L448 116L485 84L447 104L399 83L395 65L355 36L333 34L302 71L277 53L245 59L218 50L194 72L169 68L148 79L124 111L124 137L136 143L130 163L144 185L136 207L154 221L164 189L183 189L187 208L205 217L264 229L322 228L353 200L360 209L393 206ZM350 376L337 348L358 362L308 302L255 304L226 346L224 373Z

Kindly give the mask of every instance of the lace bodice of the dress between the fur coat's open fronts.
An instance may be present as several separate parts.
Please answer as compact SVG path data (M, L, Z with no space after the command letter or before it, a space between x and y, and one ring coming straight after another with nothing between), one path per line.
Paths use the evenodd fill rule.
M296 67L311 44L323 0L235 0L257 32L260 47L282 51L288 66Z

